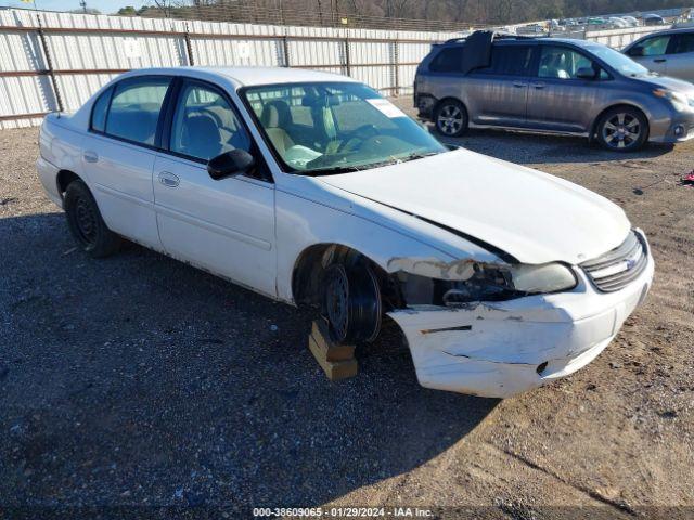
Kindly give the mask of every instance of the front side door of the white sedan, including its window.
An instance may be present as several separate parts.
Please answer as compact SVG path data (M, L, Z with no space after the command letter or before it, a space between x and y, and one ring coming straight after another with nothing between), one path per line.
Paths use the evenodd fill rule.
M262 157L221 89L193 79L176 89L153 173L162 244L175 258L273 297L274 184ZM254 171L209 177L207 161L234 148L255 157Z

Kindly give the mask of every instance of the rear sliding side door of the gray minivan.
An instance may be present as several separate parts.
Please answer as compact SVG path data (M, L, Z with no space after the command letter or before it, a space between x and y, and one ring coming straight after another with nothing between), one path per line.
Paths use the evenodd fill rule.
M526 126L532 44L494 43L489 67L471 72L464 81L471 121L499 127Z

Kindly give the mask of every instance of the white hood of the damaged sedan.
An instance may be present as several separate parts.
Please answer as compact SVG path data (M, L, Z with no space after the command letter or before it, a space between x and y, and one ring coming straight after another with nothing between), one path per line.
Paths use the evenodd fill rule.
M465 150L319 179L524 263L577 264L617 247L630 229L624 211L593 192Z

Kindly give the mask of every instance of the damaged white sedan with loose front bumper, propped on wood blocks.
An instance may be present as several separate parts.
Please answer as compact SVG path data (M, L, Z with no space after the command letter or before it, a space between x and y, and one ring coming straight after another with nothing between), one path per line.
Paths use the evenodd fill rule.
M38 171L93 257L125 237L314 306L334 341L371 341L387 315L429 388L505 398L571 374L653 278L616 205L450 151L336 75L128 73L46 118Z

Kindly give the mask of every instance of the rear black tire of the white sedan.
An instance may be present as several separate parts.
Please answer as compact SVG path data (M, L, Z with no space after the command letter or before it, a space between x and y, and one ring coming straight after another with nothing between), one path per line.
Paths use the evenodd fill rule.
M92 258L104 258L120 249L123 239L104 223L97 200L82 181L73 181L65 191L67 226L77 246Z

